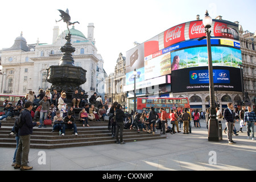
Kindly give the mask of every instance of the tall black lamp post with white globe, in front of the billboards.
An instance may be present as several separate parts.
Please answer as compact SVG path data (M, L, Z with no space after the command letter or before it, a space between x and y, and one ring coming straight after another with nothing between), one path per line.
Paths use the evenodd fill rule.
M210 94L210 115L209 115L209 130L208 141L218 142L220 137L220 130L218 129L218 120L216 119L216 105L214 99L214 84L213 84L213 67L212 67L212 49L210 47L210 27L212 27L212 18L210 18L208 11L205 13L203 19L205 34L207 36L207 51L208 51L208 71L209 71L209 94Z

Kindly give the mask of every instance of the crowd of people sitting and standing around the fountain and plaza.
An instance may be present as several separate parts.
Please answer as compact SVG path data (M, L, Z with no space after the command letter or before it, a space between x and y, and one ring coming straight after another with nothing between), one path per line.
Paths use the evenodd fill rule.
M66 93L63 91L58 93L57 90L53 90L51 94L48 90L43 92L39 90L38 96L30 91L24 98L20 97L15 107L9 101L5 102L5 114L0 118L6 119L8 117L19 118L22 125L18 127L18 119L15 120L15 125L11 130L10 135L16 134L16 150L13 158L14 168L20 168L22 170L31 169L27 166L28 152L30 148L30 135L32 134L32 128L38 125L38 127L46 127L44 121L49 120L52 124L52 132L59 131L60 135L65 135L66 129L73 129L75 135L77 135L76 121L82 122L82 126L90 127L88 121L103 121L106 118L108 121L108 129L112 132L112 137L115 138L116 143L125 144L123 141L123 130L135 129L138 132L146 132L155 134L156 129L159 129L160 134L166 133L180 133L181 125L183 125L183 134L191 133L191 122L193 120L194 127L200 128L200 119L204 119L207 122L209 120L209 109L203 113L198 110L193 110L190 113L188 108L181 108L180 110L172 109L167 118L167 112L164 108L160 108L160 114L156 113L156 108L151 107L150 111L143 110L142 113L135 111L131 114L126 113L123 107L114 102L109 107L108 99L102 101L101 96L97 97L97 93L94 93L89 102L84 96L84 93L78 93L78 90L72 94L72 105L68 107ZM75 108L80 108L79 115L76 116ZM243 126L247 125L247 138L254 140L254 123L256 122L256 116L254 111L251 111L251 107L245 106L242 110L236 114L233 111L234 107L232 103L228 104L228 108L222 111L216 107L216 117L218 122L223 119L226 120L226 129L228 142L230 144L236 143L232 139L232 133L242 131ZM32 121L34 119L34 122ZM167 119L170 119L170 125L168 125ZM234 127L234 122L240 119L240 130L237 131ZM38 122L36 122L38 120ZM26 123L26 125L24 125ZM176 129L175 129L176 127Z

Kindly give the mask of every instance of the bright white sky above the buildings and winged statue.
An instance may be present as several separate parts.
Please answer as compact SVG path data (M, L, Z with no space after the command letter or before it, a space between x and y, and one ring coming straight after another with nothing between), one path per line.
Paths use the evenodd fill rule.
M119 53L126 56L134 42L143 43L177 24L204 18L205 10L214 19L221 15L230 22L238 21L243 30L256 31L255 0L9 0L0 3L2 25L0 49L10 48L23 32L27 44L52 43L52 29L66 24L60 19L60 10L68 8L71 22L87 37L88 23L94 23L97 53L104 60L108 75L114 72Z

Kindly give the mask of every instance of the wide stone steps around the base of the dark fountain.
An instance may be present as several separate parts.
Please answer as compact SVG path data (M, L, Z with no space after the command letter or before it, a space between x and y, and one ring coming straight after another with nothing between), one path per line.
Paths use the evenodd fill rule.
M112 133L108 130L108 121L93 122L89 121L90 127L82 127L81 122L76 122L77 133L73 134L73 129L67 129L64 136L59 136L59 131L52 131L52 126L33 128L31 135L31 148L65 148L77 146L92 146L96 144L115 143L115 138L112 138ZM15 135L9 136L12 127L14 126L14 119L7 119L2 122L0 129L0 147L16 147ZM123 130L123 140L125 142L134 142L150 139L166 138L165 135L160 135L160 131L155 135L137 130Z

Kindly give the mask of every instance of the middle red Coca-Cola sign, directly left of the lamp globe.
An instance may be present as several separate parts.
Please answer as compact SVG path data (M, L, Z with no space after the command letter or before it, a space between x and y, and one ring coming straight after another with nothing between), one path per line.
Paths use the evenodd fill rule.
M189 24L189 39L196 39L205 36L203 21L194 21Z

